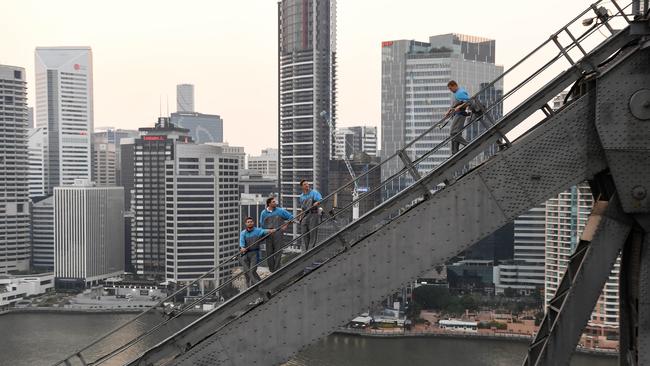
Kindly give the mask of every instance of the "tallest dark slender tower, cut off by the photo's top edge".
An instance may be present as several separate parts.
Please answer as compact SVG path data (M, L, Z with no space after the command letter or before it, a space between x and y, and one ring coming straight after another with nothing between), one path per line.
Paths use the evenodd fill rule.
M278 2L281 206L297 213L298 183L327 193L336 127L336 1Z

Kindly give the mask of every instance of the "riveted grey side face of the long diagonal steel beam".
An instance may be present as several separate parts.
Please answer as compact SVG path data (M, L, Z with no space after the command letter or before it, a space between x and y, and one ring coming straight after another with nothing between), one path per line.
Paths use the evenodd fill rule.
M607 168L592 112L587 97L568 105L456 183L357 240L345 255L214 329L171 364L280 364L372 301L592 178ZM134 364L148 365L147 355Z

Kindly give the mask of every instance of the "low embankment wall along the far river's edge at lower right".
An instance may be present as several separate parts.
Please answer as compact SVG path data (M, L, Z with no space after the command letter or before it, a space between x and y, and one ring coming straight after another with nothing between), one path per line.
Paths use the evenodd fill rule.
M356 337L369 337L369 338L452 338L452 339L484 339L484 340L498 340L518 343L530 343L533 337L526 334L512 334L512 333L469 333L469 332L444 332L444 331L399 331L391 332L384 330L373 329L350 329L340 328L334 331L333 334L342 334ZM606 357L618 357L618 351L610 349L594 349L585 347L576 347L576 352Z

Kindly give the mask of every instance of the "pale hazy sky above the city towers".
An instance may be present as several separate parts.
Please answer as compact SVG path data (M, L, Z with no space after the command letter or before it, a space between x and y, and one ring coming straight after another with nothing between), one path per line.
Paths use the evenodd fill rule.
M346 127L363 120L379 127L378 55L384 40L426 39L431 34L449 32L485 36L497 40L497 64L507 67L528 51L525 45L541 42L555 30L557 22L536 16L534 9L517 6L514 1L508 3L512 6L504 7L516 12L469 1L468 8L481 11L464 13L458 21L436 17L446 8L424 1L403 6L380 0L372 2L371 7L368 2L339 1L338 125ZM21 37L8 37L3 42L0 63L26 68L30 106L35 104L34 49L90 46L95 69L96 126L147 126L159 111L166 114L167 101L169 113L175 111L177 84L191 83L197 90L197 110L224 118L225 141L245 146L249 154L276 147L275 138L269 141L269 136L277 136L276 1L242 1L228 6L200 2L192 7L163 2L156 3L155 8L153 3L143 2L128 4L129 12L123 11L126 3L110 7L88 7L79 1L66 4L6 4L8 11L20 16L8 18L0 24L0 31ZM547 4L549 8L562 7L567 14L583 5L557 0ZM145 14L151 20L143 20ZM569 20L566 18L561 20ZM120 27L115 27L115 19L121 19ZM363 27L356 26L358 19L363 19ZM485 19L491 21L486 23ZM508 26L493 26L506 21ZM517 32L512 32L513 28ZM256 52L250 52L251 45L255 45ZM253 81L258 86L250 88ZM253 108L251 100L255 101ZM130 112L127 118L125 109ZM246 125L253 128L239 132Z

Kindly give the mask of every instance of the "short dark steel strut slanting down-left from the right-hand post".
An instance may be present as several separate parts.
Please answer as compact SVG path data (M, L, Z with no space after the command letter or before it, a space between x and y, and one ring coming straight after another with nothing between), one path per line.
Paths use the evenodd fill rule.
M597 201L560 286L546 308L524 366L569 365L634 220L616 198Z

